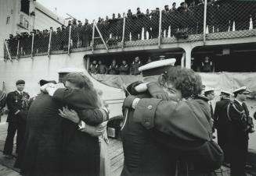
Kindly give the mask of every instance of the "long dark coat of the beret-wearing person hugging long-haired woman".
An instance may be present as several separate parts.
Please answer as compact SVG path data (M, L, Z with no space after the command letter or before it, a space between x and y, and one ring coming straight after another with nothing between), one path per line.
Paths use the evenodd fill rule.
M41 93L28 111L27 130L15 167L24 175L61 175L62 104Z

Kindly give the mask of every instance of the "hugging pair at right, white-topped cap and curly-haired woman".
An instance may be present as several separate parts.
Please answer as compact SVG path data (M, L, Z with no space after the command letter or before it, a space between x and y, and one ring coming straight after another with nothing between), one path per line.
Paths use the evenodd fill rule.
M222 164L201 78L174 64L175 58L140 67L144 83L127 88L122 176L214 175Z

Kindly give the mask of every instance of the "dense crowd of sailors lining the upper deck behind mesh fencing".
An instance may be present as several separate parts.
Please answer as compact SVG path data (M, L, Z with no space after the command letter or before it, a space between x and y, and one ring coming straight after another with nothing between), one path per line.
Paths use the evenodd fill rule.
M250 21L252 28L256 28L256 3L253 1L214 1L207 3L207 29L208 33L226 32L233 30L249 30ZM146 40L159 36L160 9L146 9L146 13L137 8L132 13L128 9L125 19L124 41ZM113 45L123 38L124 18L120 13L112 18L99 17L96 25L106 44ZM235 29L233 29L233 24ZM182 2L177 8L173 2L171 8L164 5L162 10L161 35L162 37L185 37L188 34L203 33L204 30L204 1L197 5L195 1L187 4ZM71 28L71 29L70 29ZM31 33L18 33L10 35L9 51L11 55L31 55L32 33L34 33L33 53L45 53L49 50L49 36L52 31L50 51L67 50L69 33L71 48L86 48L92 46L93 23L85 19L83 24L80 20L69 21L67 26L52 27L49 30L33 30ZM179 31L179 32L178 32ZM103 41L96 30L94 44L103 44ZM18 40L20 40L19 50Z

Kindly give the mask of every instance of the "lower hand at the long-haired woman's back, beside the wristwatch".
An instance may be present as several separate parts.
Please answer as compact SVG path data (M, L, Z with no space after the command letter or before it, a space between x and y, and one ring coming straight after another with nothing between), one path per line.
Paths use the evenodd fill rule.
M90 126L85 124L85 128L81 129L81 132L87 132L91 136L102 136L106 131L107 121L99 124L98 126Z

